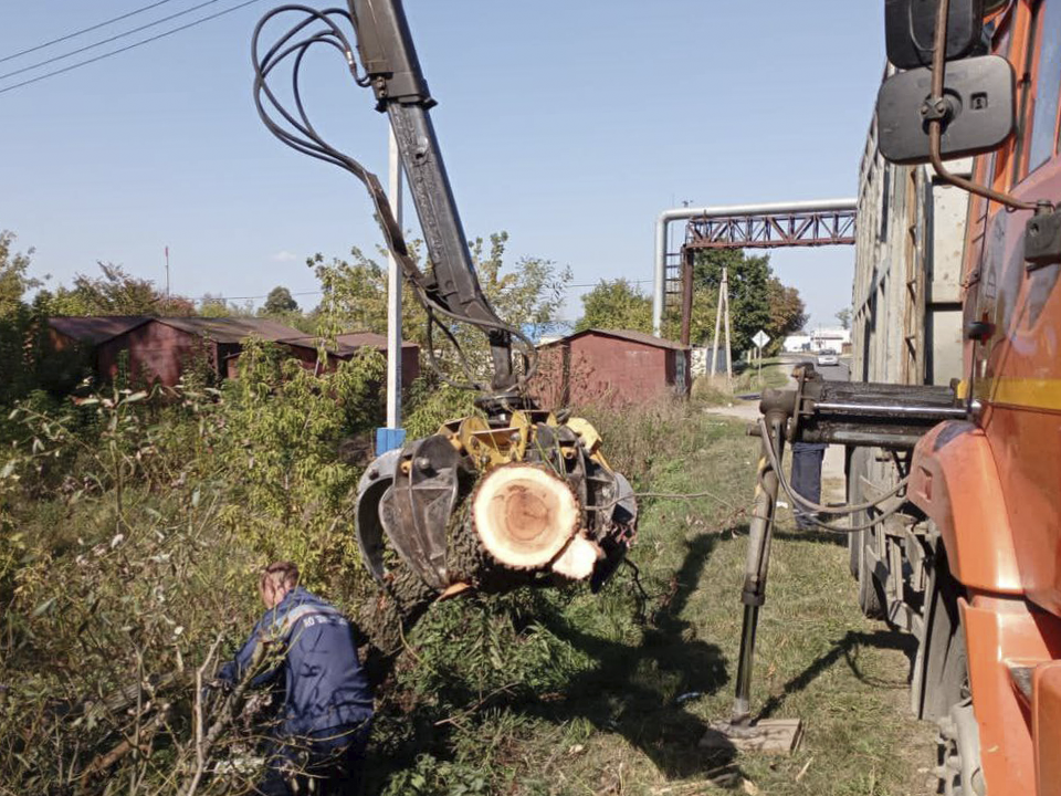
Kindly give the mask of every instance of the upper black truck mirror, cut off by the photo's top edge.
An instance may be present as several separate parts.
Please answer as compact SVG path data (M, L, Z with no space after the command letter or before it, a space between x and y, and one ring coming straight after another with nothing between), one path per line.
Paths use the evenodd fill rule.
M947 61L985 55L985 0L950 0L947 12ZM887 60L897 69L932 64L939 0L884 0Z

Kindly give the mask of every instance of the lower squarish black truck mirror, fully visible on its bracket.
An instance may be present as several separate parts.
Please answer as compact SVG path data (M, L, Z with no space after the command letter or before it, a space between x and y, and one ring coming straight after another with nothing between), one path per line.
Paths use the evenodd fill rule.
M876 97L881 155L895 164L928 163L932 118L943 123L944 159L991 151L1016 127L1016 93L1013 67L998 55L948 63L941 108L929 103L932 70L900 72L884 82Z

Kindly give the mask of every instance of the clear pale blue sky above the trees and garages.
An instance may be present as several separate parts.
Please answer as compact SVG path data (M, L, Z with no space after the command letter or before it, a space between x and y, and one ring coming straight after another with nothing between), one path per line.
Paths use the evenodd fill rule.
M0 74L199 2L171 0L0 62ZM4 3L0 57L146 4ZM36 249L38 274L66 282L103 260L162 284L169 245L174 292L259 296L277 284L314 291L303 263L315 252L375 249L380 235L360 186L282 146L258 119L250 34L274 4L0 93L0 229ZM884 63L879 0L406 8L440 103L432 113L466 231L507 230L513 261L547 258L569 265L577 284L626 276L648 291L655 218L682 200L855 193ZM38 73L0 80L0 92ZM324 54L304 85L333 143L386 178L385 121L370 93ZM812 323L829 324L850 303L853 256L852 248L778 250L771 261L799 287ZM568 317L580 310L579 292Z

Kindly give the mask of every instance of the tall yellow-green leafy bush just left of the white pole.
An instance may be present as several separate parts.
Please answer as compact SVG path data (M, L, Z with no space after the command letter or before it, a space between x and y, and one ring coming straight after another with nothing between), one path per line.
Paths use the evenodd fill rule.
M229 478L240 495L220 514L269 559L298 562L311 587L351 570L347 499L359 472L339 444L375 426L386 363L374 349L316 376L248 342L224 386Z

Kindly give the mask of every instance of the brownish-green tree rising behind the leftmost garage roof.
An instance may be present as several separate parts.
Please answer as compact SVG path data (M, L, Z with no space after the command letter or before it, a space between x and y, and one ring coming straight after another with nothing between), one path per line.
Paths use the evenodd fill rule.
M55 315L159 315L187 317L196 306L181 296L167 296L150 280L126 273L114 263L96 263L102 276L77 274L73 287L60 287L52 297Z

